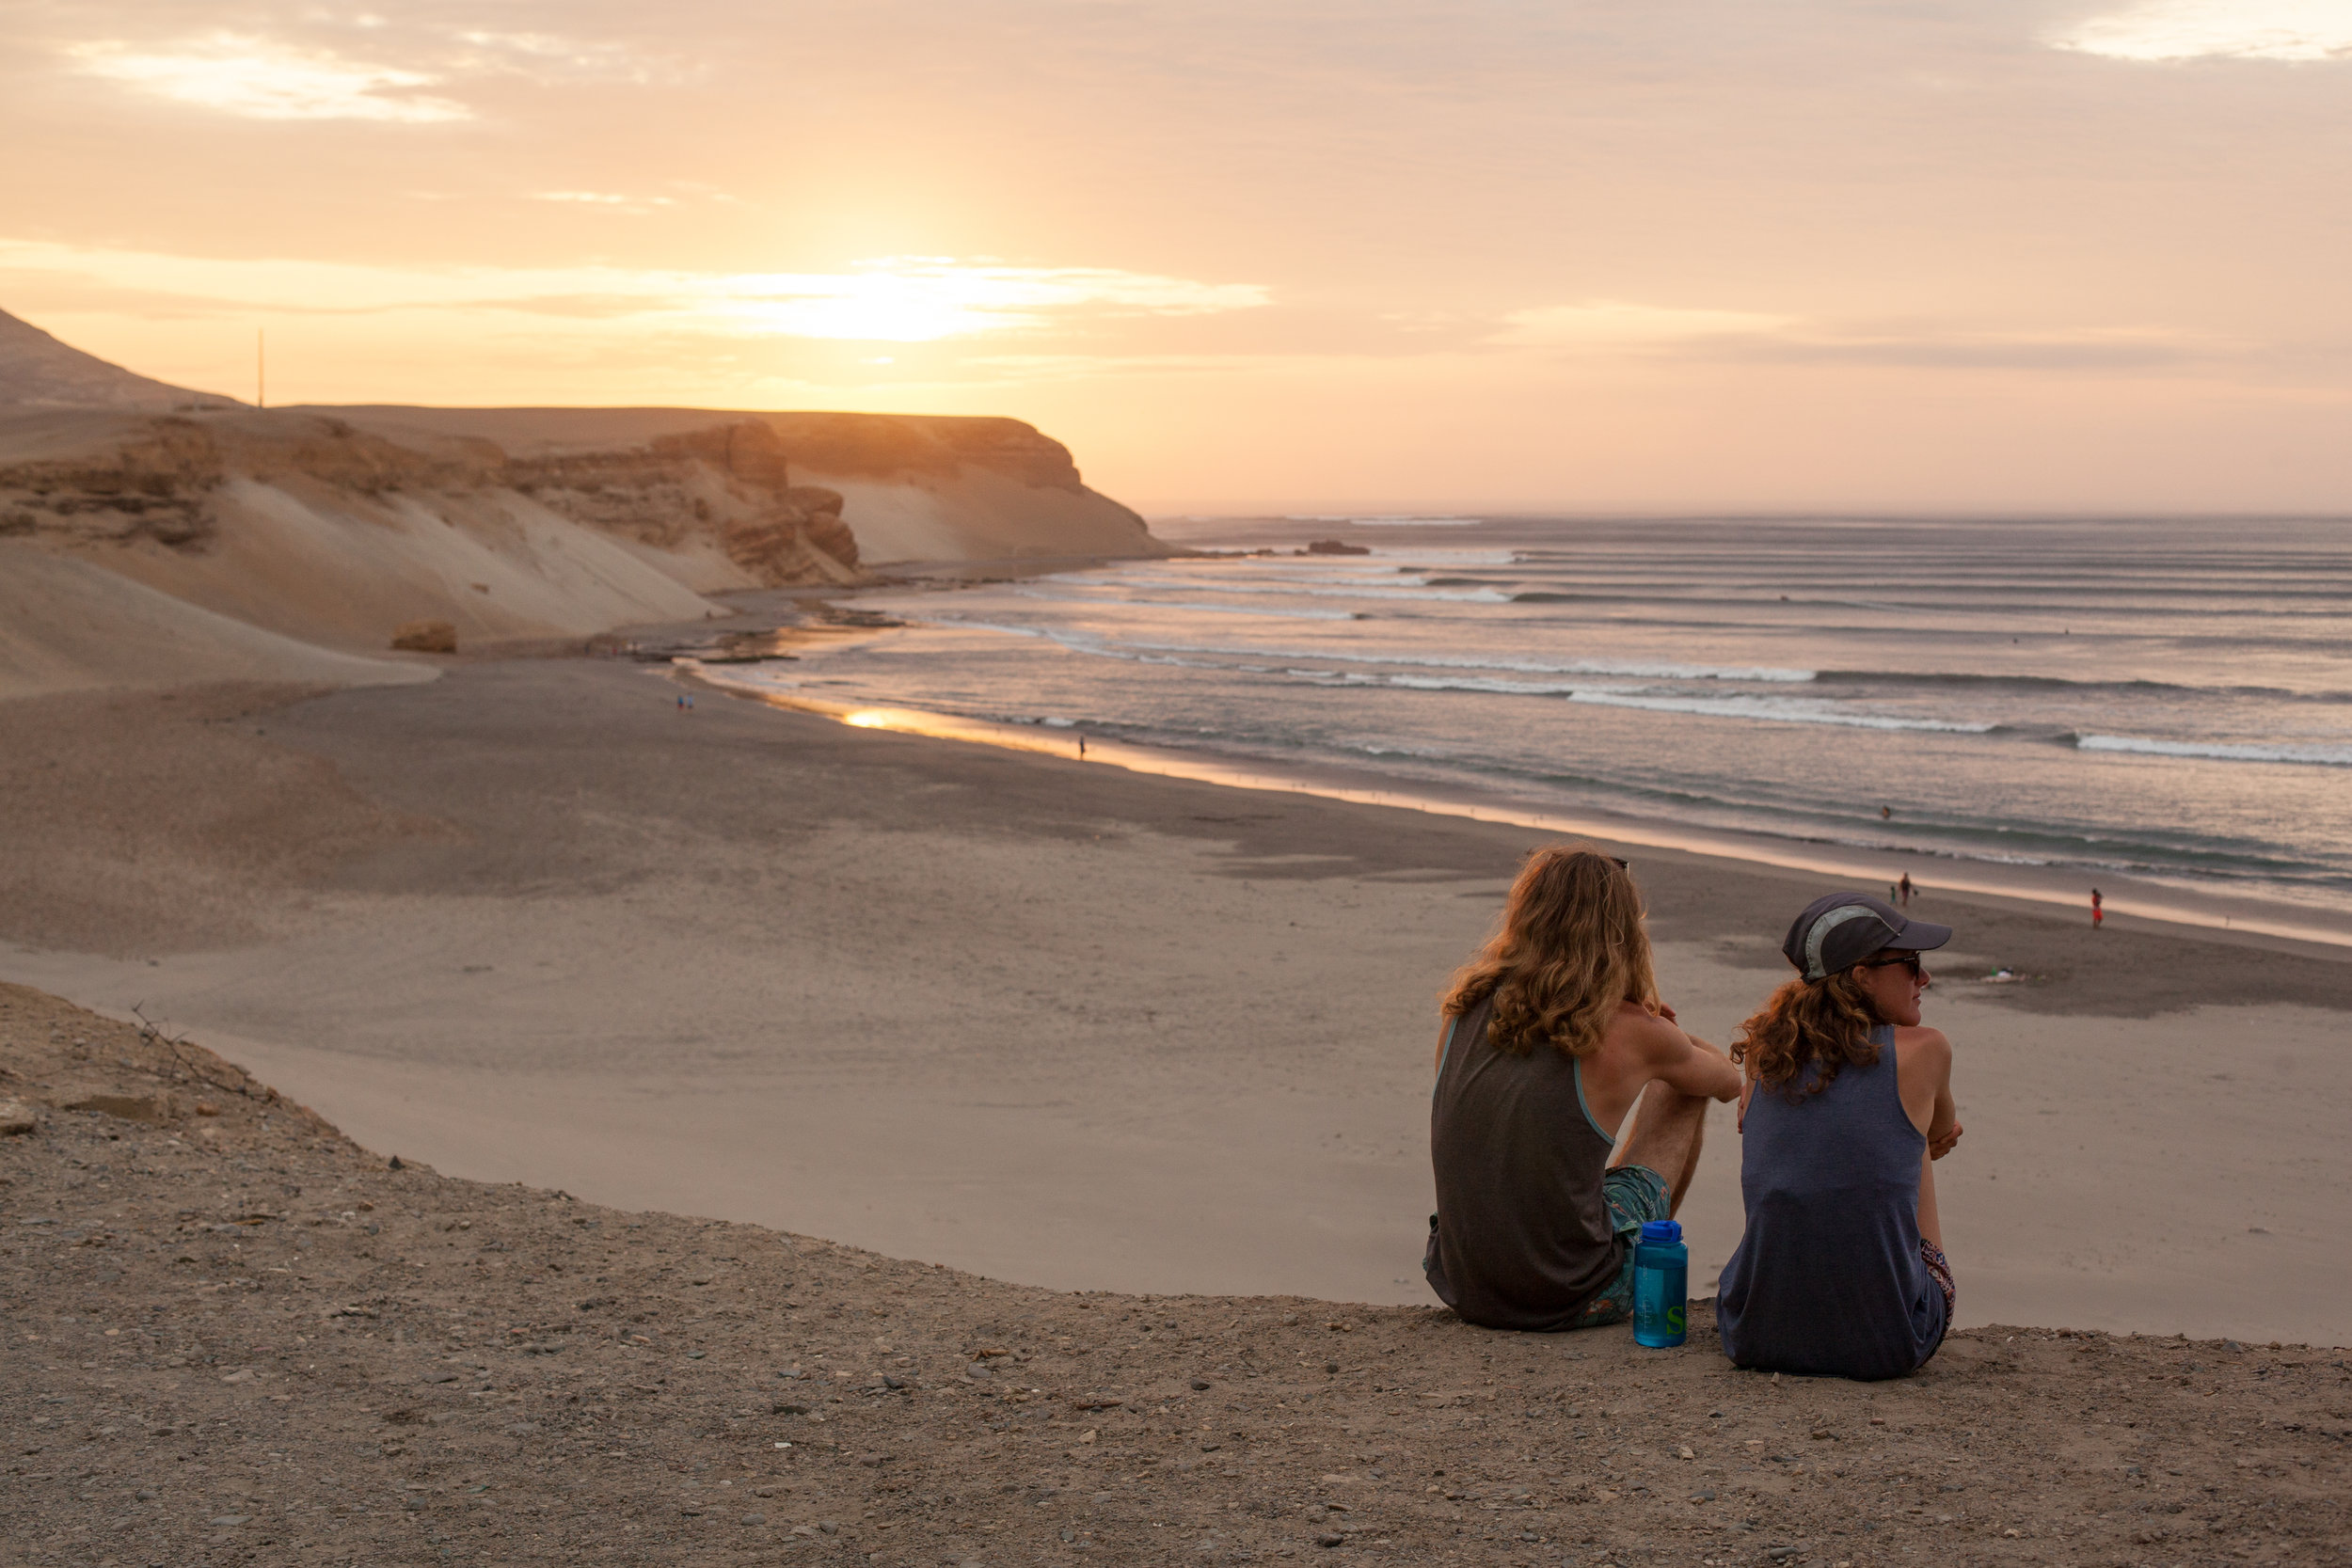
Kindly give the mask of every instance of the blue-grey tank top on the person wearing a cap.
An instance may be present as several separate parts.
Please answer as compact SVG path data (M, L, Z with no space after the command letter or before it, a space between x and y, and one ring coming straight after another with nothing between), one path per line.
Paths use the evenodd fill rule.
M1839 1067L1795 1105L1757 1088L1740 1138L1748 1234L1724 1265L1715 1326L1740 1366L1900 1378L1936 1354L1943 1291L1919 1258L1926 1138L1896 1091L1896 1032L1879 1060Z

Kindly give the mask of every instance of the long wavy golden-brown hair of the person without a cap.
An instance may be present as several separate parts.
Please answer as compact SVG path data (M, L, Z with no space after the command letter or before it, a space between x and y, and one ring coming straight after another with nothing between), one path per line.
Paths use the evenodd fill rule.
M1590 1056L1621 1001L1658 1009L1642 893L1613 858L1583 844L1550 844L1519 867L1503 924L1454 973L1439 1004L1461 1018L1486 997L1486 1039L1526 1056L1538 1041Z

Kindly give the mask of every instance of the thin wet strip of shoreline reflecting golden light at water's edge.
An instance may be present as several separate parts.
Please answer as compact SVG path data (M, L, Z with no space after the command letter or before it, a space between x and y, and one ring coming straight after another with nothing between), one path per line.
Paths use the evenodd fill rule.
M1136 741L1103 738L1084 724L1044 726L1007 724L997 719L969 719L929 708L906 708L889 703L840 703L818 696L800 696L734 679L696 658L675 661L677 677L731 698L764 703L793 712L849 724L854 729L882 729L934 741L957 741L967 745L993 745L1016 752L1068 757L1077 736L1087 738L1087 762L1101 762L1129 773L1162 778L1185 778L1237 790L1282 790L1367 806L1392 806L1432 816L1456 816L1472 823L1501 823L1534 827L1566 837L1592 837L1611 844L1665 849L1693 858L1724 860L1733 865L1766 865L1773 870L1809 872L1823 877L1853 879L1860 886L1893 882L1903 872L1917 886L1966 893L1976 898L2016 900L2044 910L2077 910L2089 924L2089 898L2074 889L2053 886L2060 877L2082 882L2096 875L2105 889L2107 922L2150 922L2157 926L2190 929L2209 933L2213 940L2267 940L2284 952L2312 957L2336 957L2352 964L2352 914L2305 910L2298 905L2234 900L2237 910L2223 907L2223 893L2201 893L2176 884L2159 884L2129 872L2079 872L2072 867L2004 867L1994 860L1976 860L1950 853L1933 856L1907 849L1872 851L1863 846L1823 839L1740 835L1731 830L1675 830L1649 818L1618 813L1564 813L1548 811L1517 799L1503 790L1430 788L1409 780L1385 780L1371 769L1343 769L1336 764L1291 766L1218 752L1211 748L1143 745ZM1355 778L1383 783L1355 783Z

